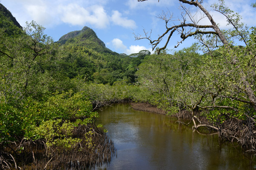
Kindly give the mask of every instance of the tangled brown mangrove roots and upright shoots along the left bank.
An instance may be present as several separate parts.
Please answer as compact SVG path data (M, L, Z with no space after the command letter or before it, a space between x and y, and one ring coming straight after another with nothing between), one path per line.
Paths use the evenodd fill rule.
M93 132L90 133L92 139L90 147L85 136L88 131ZM84 170L87 167L108 164L112 157L116 156L113 142L103 130L97 129L94 125L76 127L73 130L73 137L80 138L81 142L71 150L58 146L47 150L44 140L2 143L0 144L0 169Z

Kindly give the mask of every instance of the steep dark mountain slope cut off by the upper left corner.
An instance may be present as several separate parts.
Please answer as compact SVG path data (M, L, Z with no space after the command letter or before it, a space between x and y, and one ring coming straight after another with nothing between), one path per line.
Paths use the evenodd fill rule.
M22 26L17 22L12 13L0 3L0 28L5 28L9 36L22 34Z

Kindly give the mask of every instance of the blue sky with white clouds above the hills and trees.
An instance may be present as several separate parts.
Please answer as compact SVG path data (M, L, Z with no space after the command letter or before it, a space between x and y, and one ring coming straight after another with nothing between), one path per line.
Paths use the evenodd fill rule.
M225 17L211 9L212 3L218 0L204 0L204 7L210 11L220 28L229 28ZM256 8L251 3L256 0L225 0L226 5L238 12L247 26L255 26ZM105 42L107 48L117 53L132 54L141 50L152 51L148 40L135 40L136 35L151 32L151 38L156 39L165 32L165 22L157 16L163 11L170 11L173 19L180 19L180 3L178 0L0 0L20 23L26 26L26 21L34 20L44 26L45 34L58 41L61 36L71 31L81 30L88 26L96 32L99 39ZM193 6L191 14L196 14ZM201 14L196 14L201 16ZM202 22L209 23L207 20ZM170 40L167 48L173 49L177 44L178 35ZM159 47L164 45L160 43ZM179 45L176 50L186 48L195 40L191 37Z

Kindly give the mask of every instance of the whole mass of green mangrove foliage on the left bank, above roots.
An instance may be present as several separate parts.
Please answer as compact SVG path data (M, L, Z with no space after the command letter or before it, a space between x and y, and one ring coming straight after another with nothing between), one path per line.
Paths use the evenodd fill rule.
M44 139L49 149L68 150L81 140L73 129L92 124L98 114L86 96L70 90L76 81L56 71L58 45L44 29L32 21L26 34L10 37L0 28L0 143ZM79 58L75 64L90 66Z

